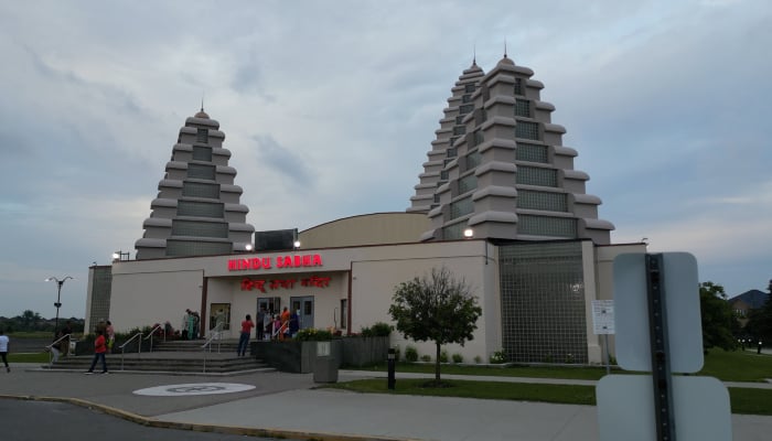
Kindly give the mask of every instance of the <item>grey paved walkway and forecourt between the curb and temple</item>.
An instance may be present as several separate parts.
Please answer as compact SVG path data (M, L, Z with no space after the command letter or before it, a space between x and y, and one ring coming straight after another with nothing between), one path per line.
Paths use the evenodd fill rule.
M397 381L412 376L398 373ZM341 370L339 380L367 377L385 377L385 374ZM454 378L451 375L443 377ZM470 379L469 376L463 378ZM538 378L472 378L594 384ZM218 384L254 388L210 395L171 394L159 397L135 394L136 390L157 386L190 392ZM598 439L598 416L592 406L355 394L313 387L312 374L253 373L228 377L128 373L83 375L41 372L36 365L13 364L10 374L0 372L0 398L67 401L157 427L329 441ZM733 415L732 431L736 441L769 440L772 417Z

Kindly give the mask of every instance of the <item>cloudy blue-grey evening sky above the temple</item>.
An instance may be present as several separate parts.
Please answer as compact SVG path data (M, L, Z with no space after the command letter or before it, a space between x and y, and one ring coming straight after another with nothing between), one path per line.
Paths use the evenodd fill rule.
M409 206L450 88L504 43L614 243L772 278L768 0L0 3L0 315L85 315L202 97L257 229Z

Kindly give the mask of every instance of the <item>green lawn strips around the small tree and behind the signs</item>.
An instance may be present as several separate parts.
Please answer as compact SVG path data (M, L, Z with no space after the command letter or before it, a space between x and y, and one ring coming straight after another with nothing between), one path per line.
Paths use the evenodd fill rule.
M433 364L399 363L397 372L433 374ZM369 370L385 372L386 366L374 366ZM594 379L605 375L604 367L559 366L458 366L443 365L441 373L452 375L512 376L532 378ZM612 369L612 374L634 374ZM764 381L772 378L772 356L755 352L726 352L712 349L705 356L705 367L697 375L716 377L722 381ZM358 392L425 395L481 399L507 399L524 401L560 402L568 405L596 404L593 386L544 385L523 383L448 380L450 387L425 387L427 379L399 379L396 390L388 390L386 379L363 379L339 383L328 387ZM732 413L772 415L772 389L729 388Z

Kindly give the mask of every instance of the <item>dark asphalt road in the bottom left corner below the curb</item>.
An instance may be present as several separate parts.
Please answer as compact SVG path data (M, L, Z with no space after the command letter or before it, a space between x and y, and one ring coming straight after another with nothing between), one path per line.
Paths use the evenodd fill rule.
M0 438L14 441L245 441L278 440L236 434L151 428L64 402L0 399ZM287 441L286 439L283 441Z

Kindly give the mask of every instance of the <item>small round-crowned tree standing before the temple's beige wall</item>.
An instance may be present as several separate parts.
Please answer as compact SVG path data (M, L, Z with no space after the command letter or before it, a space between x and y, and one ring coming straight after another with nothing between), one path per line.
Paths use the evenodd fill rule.
M473 338L482 315L476 297L463 279L453 279L443 267L432 269L430 277L399 283L392 300L388 313L405 338L435 342L435 386L440 386L440 347L448 343L463 346Z

